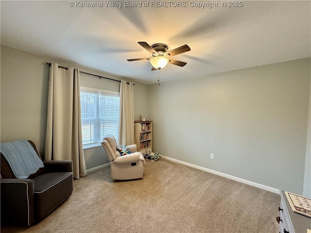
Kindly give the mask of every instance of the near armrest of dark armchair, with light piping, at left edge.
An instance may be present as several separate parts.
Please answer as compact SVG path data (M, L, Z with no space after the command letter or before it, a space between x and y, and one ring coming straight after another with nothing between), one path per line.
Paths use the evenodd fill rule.
M34 224L34 181L1 179L1 225Z

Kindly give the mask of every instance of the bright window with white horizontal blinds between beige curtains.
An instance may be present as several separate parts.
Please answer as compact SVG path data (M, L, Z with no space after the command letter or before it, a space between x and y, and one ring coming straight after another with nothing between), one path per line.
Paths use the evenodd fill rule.
M111 133L118 141L119 93L80 88L83 146L100 144Z

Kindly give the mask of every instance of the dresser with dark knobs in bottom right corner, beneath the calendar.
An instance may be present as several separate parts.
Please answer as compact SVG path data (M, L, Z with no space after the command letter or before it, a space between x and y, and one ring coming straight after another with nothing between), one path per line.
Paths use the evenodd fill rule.
M281 203L278 207L280 216L276 217L279 233L307 233L307 229L311 230L311 218L292 211L284 191L280 191L280 195Z

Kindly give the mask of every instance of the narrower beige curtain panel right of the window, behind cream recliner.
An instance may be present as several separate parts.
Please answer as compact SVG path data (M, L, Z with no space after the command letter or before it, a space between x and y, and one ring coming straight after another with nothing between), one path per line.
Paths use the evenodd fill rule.
M119 144L134 144L134 83L120 83Z

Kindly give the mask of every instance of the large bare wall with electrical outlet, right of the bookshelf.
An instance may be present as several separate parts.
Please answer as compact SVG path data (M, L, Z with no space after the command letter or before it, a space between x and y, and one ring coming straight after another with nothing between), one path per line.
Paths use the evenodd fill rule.
M153 149L302 194L310 68L309 58L151 85Z

